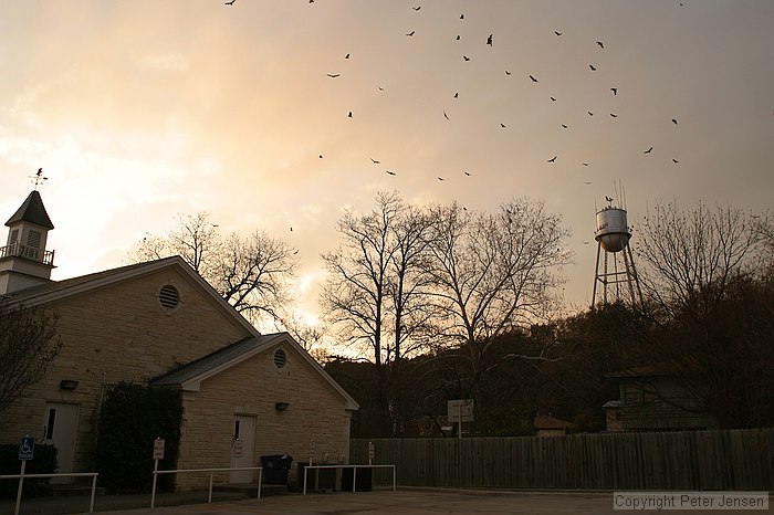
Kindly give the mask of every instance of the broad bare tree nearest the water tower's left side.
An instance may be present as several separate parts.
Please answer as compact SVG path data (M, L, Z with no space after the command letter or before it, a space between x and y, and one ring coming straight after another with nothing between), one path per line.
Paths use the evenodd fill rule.
M488 361L498 339L547 314L552 288L561 283L556 273L571 259L563 249L568 232L558 216L526 199L495 214L452 204L435 208L432 217L432 303L443 313L439 335L464 351L480 404L482 377L499 365Z

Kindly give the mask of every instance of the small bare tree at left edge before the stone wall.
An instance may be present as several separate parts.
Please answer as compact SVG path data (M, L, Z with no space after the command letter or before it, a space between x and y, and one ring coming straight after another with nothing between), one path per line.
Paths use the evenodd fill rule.
M0 413L45 376L61 349L55 315L0 299Z

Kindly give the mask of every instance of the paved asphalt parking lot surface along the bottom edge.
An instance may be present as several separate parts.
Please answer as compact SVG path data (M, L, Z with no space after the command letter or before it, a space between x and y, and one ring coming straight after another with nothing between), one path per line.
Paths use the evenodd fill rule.
M398 488L375 492L272 495L248 498L244 494L213 492L159 494L151 509L149 495L102 495L95 512L109 515L418 515L418 514L616 514L611 492L508 492L439 488ZM774 504L770 503L772 507ZM0 514L13 514L14 503L0 503ZM20 515L70 515L88 512L88 497L25 500ZM663 511L680 513L686 511ZM691 513L691 512L688 512ZM693 513L702 513L693 511ZM713 514L751 515L761 511L712 511Z

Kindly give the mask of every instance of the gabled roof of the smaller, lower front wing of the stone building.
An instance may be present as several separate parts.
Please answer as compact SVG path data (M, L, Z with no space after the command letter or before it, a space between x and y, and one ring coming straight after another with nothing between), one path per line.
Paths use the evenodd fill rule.
M178 387L187 391L199 391L202 380L220 374L260 353L266 351L279 344L284 344L286 348L292 349L296 356L301 357L318 372L320 376L344 398L347 410L359 409L355 399L333 380L333 378L323 370L323 367L321 367L308 353L301 348L287 333L275 333L241 339L202 358L184 365L176 370L159 376L149 383L151 386Z

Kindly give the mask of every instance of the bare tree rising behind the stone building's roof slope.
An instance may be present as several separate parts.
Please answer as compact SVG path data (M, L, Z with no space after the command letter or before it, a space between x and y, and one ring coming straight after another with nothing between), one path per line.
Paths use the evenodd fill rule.
M142 262L180 255L191 267L253 323L280 318L290 303L287 284L295 274L295 252L265 232L221 237L209 212L179 216L166 237L148 235L128 255Z

